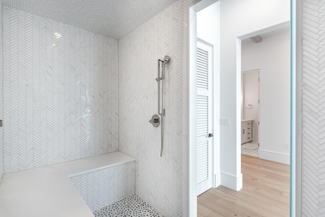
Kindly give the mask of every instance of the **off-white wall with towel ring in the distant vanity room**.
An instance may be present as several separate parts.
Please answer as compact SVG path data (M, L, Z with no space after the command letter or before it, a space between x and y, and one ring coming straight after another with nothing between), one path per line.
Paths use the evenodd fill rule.
M258 71L242 73L242 80L242 119L254 120L253 142L258 142Z

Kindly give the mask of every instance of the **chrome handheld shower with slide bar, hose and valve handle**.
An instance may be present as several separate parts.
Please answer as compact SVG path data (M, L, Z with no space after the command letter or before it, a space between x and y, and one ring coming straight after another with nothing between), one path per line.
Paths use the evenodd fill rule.
M164 116L165 116L165 107L164 107L164 81L165 81L165 69L166 64L169 61L169 56L165 56L163 60L158 59L158 77L156 81L158 82L158 115L153 115L149 120L154 127L159 126L159 121L161 122L161 148L160 148L160 157L163 155L164 148ZM160 77L160 65L161 65L161 77ZM161 81L161 112L160 112L160 81Z

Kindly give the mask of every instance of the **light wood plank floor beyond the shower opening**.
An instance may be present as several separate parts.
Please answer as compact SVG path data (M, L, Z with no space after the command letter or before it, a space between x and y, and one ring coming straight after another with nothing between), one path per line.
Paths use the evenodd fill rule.
M219 186L198 197L202 216L289 216L290 166L242 154L243 188Z

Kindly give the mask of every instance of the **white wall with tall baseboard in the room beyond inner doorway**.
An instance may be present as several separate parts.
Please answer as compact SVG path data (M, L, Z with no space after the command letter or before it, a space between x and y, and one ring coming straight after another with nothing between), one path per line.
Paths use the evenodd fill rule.
M290 164L290 27L242 43L242 71L254 69L260 69L259 158Z

